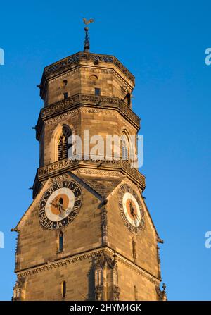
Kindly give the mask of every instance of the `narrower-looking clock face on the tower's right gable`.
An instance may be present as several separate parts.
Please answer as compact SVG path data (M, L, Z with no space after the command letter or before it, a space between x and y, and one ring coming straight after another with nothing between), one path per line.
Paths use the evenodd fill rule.
M124 224L134 234L140 234L144 227L144 211L136 192L127 184L120 187L119 194L120 214Z

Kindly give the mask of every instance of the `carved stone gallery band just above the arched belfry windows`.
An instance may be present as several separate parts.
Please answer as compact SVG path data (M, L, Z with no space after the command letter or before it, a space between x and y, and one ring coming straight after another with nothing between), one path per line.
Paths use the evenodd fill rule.
M44 107L41 109L39 118L37 121L37 140L42 128L42 121L46 121L49 118L58 116L58 114L65 113L73 109L77 109L80 106L91 107L94 109L113 109L118 111L124 118L126 118L136 129L140 128L140 118L137 116L132 109L121 101L117 97L103 97L96 96L93 94L75 94L68 99L63 99L54 104Z

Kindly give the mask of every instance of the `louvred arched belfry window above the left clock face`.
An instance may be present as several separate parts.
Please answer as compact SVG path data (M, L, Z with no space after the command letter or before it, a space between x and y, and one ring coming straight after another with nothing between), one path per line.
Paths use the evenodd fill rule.
M68 149L71 144L68 144L68 137L72 135L72 132L68 126L63 126L62 132L58 137L58 161L68 158Z

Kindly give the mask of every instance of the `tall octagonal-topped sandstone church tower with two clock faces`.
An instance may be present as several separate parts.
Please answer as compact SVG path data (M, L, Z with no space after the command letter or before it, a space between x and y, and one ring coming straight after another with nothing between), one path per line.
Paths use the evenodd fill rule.
M13 300L163 300L162 240L129 143L140 128L134 75L115 56L90 53L85 30L84 51L46 66L39 85L39 168L33 202L13 229ZM75 159L71 136L82 142ZM99 136L104 151L110 136L120 142L94 155Z

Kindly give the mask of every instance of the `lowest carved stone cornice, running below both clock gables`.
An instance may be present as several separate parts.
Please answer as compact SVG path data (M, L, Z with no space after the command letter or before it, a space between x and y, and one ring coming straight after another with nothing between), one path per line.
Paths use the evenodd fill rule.
M49 261L46 264L33 266L32 268L25 268L24 270L16 270L15 273L17 274L18 278L27 277L27 276L34 275L36 273L49 271L54 268L59 268L60 266L74 264L75 262L82 261L84 259L98 257L101 254L107 254L110 257L113 257L113 255L115 254L117 263L124 264L124 266L127 266L128 268L132 268L137 274L140 274L141 276L151 281L155 285L160 284L159 278L153 276L151 273L141 268L140 266L137 266L126 257L123 257L121 254L114 252L113 249L110 249L109 247L101 247L101 248L93 249L93 250L90 250L81 254L75 254L69 257L65 257L63 259L57 259L56 261Z

